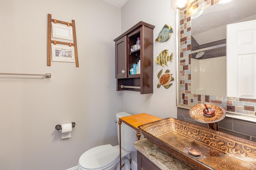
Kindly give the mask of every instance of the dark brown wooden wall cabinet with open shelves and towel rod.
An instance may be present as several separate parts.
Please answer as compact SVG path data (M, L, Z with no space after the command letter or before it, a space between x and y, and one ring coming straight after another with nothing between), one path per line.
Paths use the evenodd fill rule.
M153 93L153 29L155 26L138 22L124 32L115 42L116 90ZM140 48L132 48L140 38ZM140 64L139 64L140 63ZM130 70L137 64L137 73Z

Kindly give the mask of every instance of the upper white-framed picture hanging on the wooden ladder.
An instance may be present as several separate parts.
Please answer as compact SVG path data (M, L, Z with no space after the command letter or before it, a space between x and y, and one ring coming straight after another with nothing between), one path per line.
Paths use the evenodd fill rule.
M61 24L52 23L52 37L61 38L65 40L73 40L73 29L72 26L65 26Z

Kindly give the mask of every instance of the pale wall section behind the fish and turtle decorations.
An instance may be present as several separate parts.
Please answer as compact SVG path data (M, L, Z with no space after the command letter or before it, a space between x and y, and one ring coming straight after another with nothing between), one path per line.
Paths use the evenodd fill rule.
M134 26L140 21L147 22L155 26L154 39L157 38L160 30L165 24L172 26L173 34L166 42L154 42L154 59L164 49L168 49L169 54L173 52L172 63L168 61L168 66L154 65L154 92L153 94L141 95L138 92L124 91L122 93L123 110L132 113L148 113L158 116L160 118L177 117L176 109L176 14L170 6L170 0L128 0L122 7L122 32L125 32L130 27ZM170 70L174 77L173 85L169 89L161 86L159 89L156 87L158 84L158 72L163 69Z

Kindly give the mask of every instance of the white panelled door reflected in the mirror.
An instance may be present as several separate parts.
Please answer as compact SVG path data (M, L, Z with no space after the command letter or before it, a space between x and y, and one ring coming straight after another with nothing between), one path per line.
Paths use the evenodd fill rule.
M227 97L256 99L256 20L227 25Z

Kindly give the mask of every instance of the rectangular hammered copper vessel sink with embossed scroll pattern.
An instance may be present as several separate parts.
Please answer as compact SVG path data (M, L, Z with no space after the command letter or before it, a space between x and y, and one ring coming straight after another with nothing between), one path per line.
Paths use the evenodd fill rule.
M256 142L174 118L138 127L151 142L196 170L256 170ZM190 148L200 150L194 156Z

